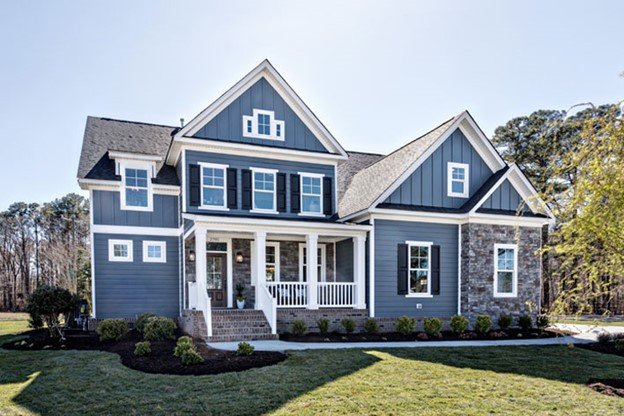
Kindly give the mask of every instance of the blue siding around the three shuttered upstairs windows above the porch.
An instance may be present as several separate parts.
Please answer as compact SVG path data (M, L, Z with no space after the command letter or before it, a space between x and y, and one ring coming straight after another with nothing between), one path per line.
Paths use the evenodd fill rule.
M282 173L286 174L297 174L298 172L307 172L307 173L320 173L327 177L333 179L333 186L336 186L336 181L334 178L334 167L332 165L320 165L313 163L301 163L301 162L291 162L286 160L272 160L272 159L262 159L258 157L246 157L246 156L235 156L235 155L224 155L220 153L204 153L204 152L196 152L196 151L186 151L186 163L187 163L187 178L189 177L189 165L197 164L199 162L205 163L219 163L226 164L230 168L238 169L237 175L237 200L238 206L241 206L242 201L242 175L241 169L249 169L251 167L254 168L266 168L266 169L277 169ZM186 192L186 210L190 213L205 213L205 214L216 214L220 211L214 210L202 210L198 207L190 206L190 192L188 192L188 184L187 192ZM335 188L334 188L335 189ZM335 212L336 201L333 201L332 198L332 212ZM286 206L290 211L290 180L286 181ZM258 217L276 217L276 218L315 218L315 217L305 217L298 215L296 213L284 212L280 214L258 214L258 213L250 213L247 210L242 209L230 209L229 211L223 211L228 215L255 215ZM318 217L316 217L318 218ZM324 217L321 217L324 218Z

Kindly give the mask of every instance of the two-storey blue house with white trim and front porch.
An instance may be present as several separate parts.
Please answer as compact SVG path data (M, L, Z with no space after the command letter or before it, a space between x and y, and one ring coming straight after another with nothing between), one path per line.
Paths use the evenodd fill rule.
M265 60L180 128L89 117L78 182L96 319L155 312L217 340L538 310L552 215L468 112L347 152Z

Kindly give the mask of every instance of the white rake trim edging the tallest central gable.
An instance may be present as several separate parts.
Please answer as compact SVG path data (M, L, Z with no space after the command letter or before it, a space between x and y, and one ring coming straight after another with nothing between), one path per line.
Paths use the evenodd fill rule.
M312 113L308 106L299 98L295 91L266 59L243 77L243 79L238 81L232 88L221 95L221 97L210 104L204 111L193 118L186 126L180 129L180 131L175 134L173 143L175 144L180 138L193 136L261 78L265 78L271 87L280 94L284 101L286 101L286 104L299 116L306 127L314 133L316 138L330 153L338 154L342 156L343 159L347 159L347 152L342 148L340 143L338 143L321 121ZM172 146L167 155L167 161L169 163L172 163L172 159L177 158L178 151L179 147L174 149L174 146Z

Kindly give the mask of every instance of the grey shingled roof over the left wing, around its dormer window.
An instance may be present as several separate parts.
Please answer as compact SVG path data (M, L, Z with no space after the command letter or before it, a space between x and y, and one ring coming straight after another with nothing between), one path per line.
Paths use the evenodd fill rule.
M178 185L175 169L164 164L175 127L110 118L87 117L78 179L120 180L109 152L160 157L154 183Z

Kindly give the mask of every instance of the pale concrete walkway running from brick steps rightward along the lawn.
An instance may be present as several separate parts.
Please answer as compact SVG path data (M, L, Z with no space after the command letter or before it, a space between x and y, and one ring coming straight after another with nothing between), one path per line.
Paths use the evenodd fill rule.
M596 342L598 334L601 332L624 333L624 327L598 327L593 325L565 325L556 324L558 328L577 332L576 335L541 338L541 339L511 339L499 341L407 341L407 342L287 342L287 341L248 341L258 351L288 351L288 350L333 350L344 348L456 348L456 347L500 347L513 345L566 345L587 344ZM238 342L211 342L209 347L222 350L236 351Z

